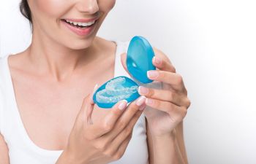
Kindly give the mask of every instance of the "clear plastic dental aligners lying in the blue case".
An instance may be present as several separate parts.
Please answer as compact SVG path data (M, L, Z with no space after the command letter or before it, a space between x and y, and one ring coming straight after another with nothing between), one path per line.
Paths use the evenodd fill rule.
M126 82L124 77L118 77L110 80L104 90L100 90L96 94L96 99L100 103L116 103L123 99L129 98L133 93L137 92L138 86L124 87L122 84Z

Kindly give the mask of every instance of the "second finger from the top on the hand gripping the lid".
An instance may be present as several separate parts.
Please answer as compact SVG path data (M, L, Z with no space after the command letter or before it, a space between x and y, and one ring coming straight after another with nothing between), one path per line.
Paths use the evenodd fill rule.
M184 92L184 90L186 90L183 78L179 74L170 71L151 70L147 72L147 75L149 79L159 82L165 82L171 85L174 90L177 90L179 92Z

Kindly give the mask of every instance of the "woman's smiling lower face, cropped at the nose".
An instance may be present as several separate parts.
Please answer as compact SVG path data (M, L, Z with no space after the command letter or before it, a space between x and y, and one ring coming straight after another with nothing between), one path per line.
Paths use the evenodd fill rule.
M81 50L89 47L116 0L29 0L33 32ZM39 36L40 36L39 35Z

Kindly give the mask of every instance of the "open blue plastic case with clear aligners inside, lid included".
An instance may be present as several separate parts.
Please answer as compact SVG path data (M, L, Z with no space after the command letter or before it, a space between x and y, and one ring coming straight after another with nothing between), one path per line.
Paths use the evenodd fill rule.
M154 58L154 50L151 44L143 36L134 36L129 42L126 62L129 74L135 80L124 76L110 79L94 92L94 103L108 109L124 99L128 103L135 101L140 97L139 85L153 82L147 77L147 71L156 70L152 58Z

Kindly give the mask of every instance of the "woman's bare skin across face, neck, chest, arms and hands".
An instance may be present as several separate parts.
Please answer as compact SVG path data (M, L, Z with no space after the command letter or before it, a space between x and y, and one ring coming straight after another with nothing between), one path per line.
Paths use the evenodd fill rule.
M124 154L146 103L154 108L144 111L150 164L187 163L182 120L190 101L182 77L161 51L154 50L161 62L153 60L159 72L153 79L164 83L163 90L148 88L147 94L140 93L146 102L142 97L140 105L136 100L125 110L118 109L121 102L102 110L91 101L91 88L113 78L116 44L96 34L115 2L29 1L31 45L8 59L23 125L38 147L64 150L57 163L109 163ZM89 36L78 36L61 24L62 18L93 17L99 21ZM125 58L123 54L124 69ZM0 154L0 163L10 163L1 135Z

